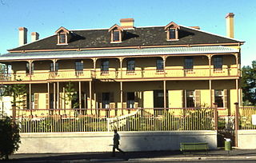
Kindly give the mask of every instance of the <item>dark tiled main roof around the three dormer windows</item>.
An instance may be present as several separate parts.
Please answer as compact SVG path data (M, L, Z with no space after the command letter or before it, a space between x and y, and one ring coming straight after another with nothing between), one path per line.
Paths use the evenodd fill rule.
M72 31L72 30L71 30ZM166 41L164 26L140 27L134 30L124 30L124 39L121 43L110 43L108 30L73 30L68 45L57 45L57 35L32 42L13 50L62 50L77 48L102 48L120 46L168 46L186 44L214 44L238 43L239 41L209 34L181 26L178 32L178 41Z

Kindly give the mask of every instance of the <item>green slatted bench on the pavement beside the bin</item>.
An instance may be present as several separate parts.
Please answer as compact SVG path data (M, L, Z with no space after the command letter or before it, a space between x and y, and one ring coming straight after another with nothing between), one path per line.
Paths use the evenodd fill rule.
M192 151L205 151L208 154L208 143L205 142L182 142L180 150L182 153Z

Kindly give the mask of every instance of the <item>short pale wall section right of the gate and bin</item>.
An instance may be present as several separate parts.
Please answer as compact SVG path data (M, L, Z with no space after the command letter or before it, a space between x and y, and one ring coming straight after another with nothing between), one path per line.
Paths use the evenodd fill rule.
M256 130L238 130L238 148L256 149Z

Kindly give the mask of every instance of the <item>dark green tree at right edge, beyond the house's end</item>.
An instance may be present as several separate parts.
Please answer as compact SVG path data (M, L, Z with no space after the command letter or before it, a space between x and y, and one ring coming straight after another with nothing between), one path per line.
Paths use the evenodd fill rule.
M243 105L256 105L256 61L242 67Z

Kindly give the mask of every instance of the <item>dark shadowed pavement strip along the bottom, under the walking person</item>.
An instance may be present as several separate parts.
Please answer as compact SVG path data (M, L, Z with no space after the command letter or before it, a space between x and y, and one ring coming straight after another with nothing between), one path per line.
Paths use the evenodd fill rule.
M180 151L147 151L116 153L24 153L10 155L9 161L0 162L154 162L154 161L225 161L225 160L250 160L256 162L256 149L224 149L205 152L181 153Z

